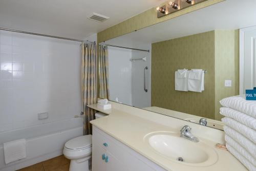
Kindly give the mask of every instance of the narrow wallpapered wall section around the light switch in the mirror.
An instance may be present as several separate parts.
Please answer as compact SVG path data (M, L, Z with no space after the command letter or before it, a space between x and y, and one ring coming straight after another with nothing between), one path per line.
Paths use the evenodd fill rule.
M232 87L224 87L225 79L232 80ZM215 31L215 119L223 116L220 100L239 95L239 30Z

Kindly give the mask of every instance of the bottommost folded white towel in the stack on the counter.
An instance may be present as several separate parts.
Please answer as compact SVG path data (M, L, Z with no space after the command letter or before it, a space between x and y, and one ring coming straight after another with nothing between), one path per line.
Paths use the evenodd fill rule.
M246 168L249 169L249 171L256 171L256 167L251 164L251 162L249 162L245 157L243 157L238 151L236 151L236 149L234 149L228 143L226 143L226 147L234 157L236 157L241 163L243 163Z

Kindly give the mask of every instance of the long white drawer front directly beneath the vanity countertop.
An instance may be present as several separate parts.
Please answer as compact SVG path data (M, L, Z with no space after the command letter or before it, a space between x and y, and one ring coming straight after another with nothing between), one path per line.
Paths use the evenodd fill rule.
M95 144L94 144L95 143ZM107 146L104 146L103 143L107 143ZM132 155L129 151L133 151L130 147L122 144L120 141L114 139L110 135L95 129L93 130L93 145L100 145L106 149L107 153L110 153L114 156L122 165L129 170L147 170L154 171L152 167L139 160L136 156ZM126 149L125 149L125 148Z

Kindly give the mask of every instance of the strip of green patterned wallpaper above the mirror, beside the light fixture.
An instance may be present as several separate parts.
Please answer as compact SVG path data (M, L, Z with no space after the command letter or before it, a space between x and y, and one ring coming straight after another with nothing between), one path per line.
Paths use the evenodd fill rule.
M131 33L135 30L143 29L148 26L155 25L160 22L164 22L165 20L172 19L178 17L180 15L196 11L198 9L208 7L210 5L214 5L225 0L208 0L194 6L185 8L183 10L177 11L173 14L166 15L161 18L157 18L156 8L152 8L146 10L134 17L124 20L122 23L119 23L115 26L112 26L108 29L105 29L97 34L97 42L102 42L105 40L109 40L127 33Z

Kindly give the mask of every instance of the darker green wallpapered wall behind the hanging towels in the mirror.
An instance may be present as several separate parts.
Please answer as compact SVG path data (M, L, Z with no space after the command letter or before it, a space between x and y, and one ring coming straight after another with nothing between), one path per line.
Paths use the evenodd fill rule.
M178 69L204 69L205 91L174 88ZM215 119L215 32L152 44L152 106Z

